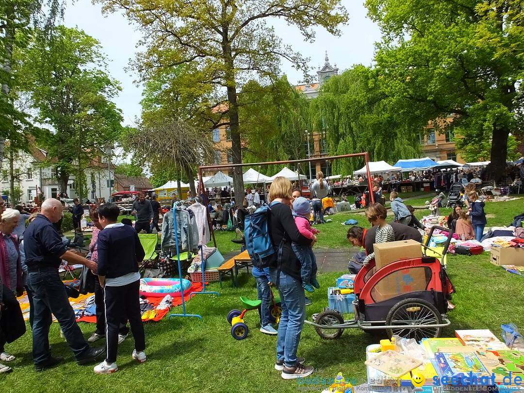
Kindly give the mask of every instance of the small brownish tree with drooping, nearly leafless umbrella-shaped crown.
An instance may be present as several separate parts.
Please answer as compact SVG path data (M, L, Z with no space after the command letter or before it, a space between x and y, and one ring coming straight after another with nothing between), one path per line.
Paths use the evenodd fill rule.
M176 179L180 179L180 172L185 172L193 196L196 193L194 182L191 181L192 165L194 162L211 162L215 152L209 134L188 123L161 115L150 116L135 132L126 135L123 144L124 148L144 157L144 162L152 170L167 172Z

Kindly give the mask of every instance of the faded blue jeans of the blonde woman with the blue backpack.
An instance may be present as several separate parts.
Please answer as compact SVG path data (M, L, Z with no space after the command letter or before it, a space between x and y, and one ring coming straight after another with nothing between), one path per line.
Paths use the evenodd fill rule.
M271 279L277 283L277 269L270 269ZM278 292L282 304L282 315L278 325L277 361L283 361L287 367L297 365L297 348L305 319L304 288L301 283L280 272Z

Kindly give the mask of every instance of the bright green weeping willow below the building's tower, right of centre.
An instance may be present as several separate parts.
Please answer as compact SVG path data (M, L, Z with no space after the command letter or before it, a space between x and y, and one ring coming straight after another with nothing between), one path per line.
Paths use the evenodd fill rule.
M362 65L322 85L311 102L311 121L315 132L325 134L331 154L367 151L370 160L387 162L417 157L418 134L427 126L416 107L403 111L385 94L376 70ZM360 158L337 160L333 173L350 174L363 164Z

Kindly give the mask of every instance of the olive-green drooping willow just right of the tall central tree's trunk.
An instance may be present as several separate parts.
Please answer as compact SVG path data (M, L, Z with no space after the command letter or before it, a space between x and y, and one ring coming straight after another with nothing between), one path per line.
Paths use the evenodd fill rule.
M249 81L239 95L244 161L298 160L307 156L309 101L281 77L274 84L261 86ZM262 173L275 169L260 168Z

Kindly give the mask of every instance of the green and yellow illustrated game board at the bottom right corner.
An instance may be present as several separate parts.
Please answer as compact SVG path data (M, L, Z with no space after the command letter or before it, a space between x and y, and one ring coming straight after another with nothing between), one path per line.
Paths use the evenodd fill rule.
M487 351L477 349L476 355L489 374L495 375L495 382L514 381L515 377L524 380L524 354L519 351Z

